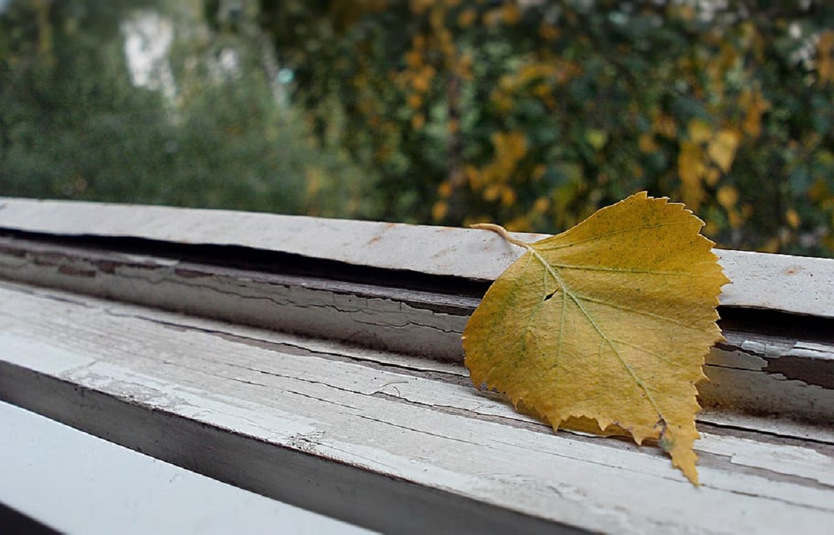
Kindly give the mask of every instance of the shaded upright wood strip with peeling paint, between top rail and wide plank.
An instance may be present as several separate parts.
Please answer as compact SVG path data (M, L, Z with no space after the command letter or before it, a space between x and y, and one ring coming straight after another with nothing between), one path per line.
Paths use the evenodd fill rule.
M0 238L0 277L453 363L463 362L460 335L479 303L468 296L11 238ZM738 316L721 321L726 341L707 358L711 382L699 385L701 403L716 414L834 421L828 320L814 325L776 318L768 324Z

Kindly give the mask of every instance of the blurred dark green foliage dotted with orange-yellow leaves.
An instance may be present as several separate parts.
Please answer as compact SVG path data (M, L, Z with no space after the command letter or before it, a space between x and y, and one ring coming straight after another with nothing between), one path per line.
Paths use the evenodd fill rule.
M647 189L722 246L834 252L830 2L260 4L383 218L556 232Z

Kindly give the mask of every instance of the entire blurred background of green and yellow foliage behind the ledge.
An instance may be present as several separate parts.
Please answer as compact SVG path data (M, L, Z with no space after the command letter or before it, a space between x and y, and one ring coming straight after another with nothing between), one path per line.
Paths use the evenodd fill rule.
M12 0L0 194L553 233L647 189L831 256L828 3ZM136 13L173 96L128 76Z

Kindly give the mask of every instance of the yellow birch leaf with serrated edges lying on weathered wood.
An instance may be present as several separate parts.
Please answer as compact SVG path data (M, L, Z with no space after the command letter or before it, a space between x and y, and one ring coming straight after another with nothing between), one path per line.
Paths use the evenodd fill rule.
M728 279L680 203L637 193L535 243L495 280L464 331L478 388L554 430L571 421L660 440L697 484L696 383L721 340ZM587 427L587 426L585 426Z

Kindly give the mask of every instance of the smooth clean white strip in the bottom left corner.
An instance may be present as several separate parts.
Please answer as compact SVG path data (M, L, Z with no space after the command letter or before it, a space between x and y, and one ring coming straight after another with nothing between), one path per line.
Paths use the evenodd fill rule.
M8 403L0 428L0 502L62 533L370 533Z

